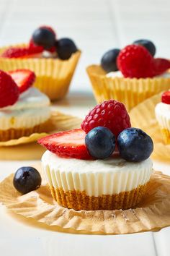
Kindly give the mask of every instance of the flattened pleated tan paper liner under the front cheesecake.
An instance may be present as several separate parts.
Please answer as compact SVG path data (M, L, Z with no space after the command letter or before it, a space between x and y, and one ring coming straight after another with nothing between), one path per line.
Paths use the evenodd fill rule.
M129 210L63 208L53 200L43 175L39 189L21 196L13 187L13 176L1 182L0 202L13 213L25 217L24 222L31 225L32 221L37 221L36 226L43 223L53 231L61 229L84 234L130 234L170 226L170 176L158 171L153 172L143 201Z

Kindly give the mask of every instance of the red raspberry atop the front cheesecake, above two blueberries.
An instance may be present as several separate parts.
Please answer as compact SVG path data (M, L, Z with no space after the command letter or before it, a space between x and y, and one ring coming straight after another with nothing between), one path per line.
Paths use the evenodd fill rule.
M130 117L123 103L109 100L95 106L81 124L88 133L94 127L107 127L117 137L123 129L131 127Z

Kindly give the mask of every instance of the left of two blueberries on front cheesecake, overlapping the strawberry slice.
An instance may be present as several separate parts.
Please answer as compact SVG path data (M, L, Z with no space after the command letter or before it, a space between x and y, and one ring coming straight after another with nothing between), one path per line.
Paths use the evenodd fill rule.
M115 150L115 135L106 127L96 127L88 132L85 143L93 158L109 158Z

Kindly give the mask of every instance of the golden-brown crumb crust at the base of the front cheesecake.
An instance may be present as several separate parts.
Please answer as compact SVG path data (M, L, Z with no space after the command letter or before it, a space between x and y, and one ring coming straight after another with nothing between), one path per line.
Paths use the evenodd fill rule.
M58 204L66 208L74 210L125 210L138 205L146 192L147 184L140 185L128 192L99 197L86 195L85 191L80 192L79 190L64 192L62 188L50 187L50 191Z

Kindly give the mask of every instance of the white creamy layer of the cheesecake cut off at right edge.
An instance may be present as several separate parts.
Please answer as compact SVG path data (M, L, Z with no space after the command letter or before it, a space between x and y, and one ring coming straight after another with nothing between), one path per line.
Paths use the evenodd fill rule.
M170 131L170 105L163 102L158 103L155 108L155 114L158 124Z

